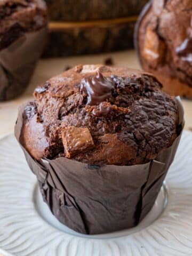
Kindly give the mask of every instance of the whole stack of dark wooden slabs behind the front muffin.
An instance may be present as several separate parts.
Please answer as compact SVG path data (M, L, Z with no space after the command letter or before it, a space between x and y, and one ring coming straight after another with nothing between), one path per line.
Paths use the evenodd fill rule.
M43 57L133 47L134 23L148 0L46 0L50 33Z

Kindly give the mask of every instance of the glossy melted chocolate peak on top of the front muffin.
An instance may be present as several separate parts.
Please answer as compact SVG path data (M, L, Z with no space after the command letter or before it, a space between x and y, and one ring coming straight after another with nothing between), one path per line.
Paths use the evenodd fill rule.
M81 81L81 91L88 95L87 105L97 105L110 98L114 87L113 80L103 77L99 71L97 76L83 78Z

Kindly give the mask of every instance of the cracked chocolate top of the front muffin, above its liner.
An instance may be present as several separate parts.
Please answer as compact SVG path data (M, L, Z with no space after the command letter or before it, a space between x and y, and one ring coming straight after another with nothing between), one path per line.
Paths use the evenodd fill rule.
M177 104L161 87L138 70L76 66L36 88L23 112L22 145L36 159L146 163L178 135Z

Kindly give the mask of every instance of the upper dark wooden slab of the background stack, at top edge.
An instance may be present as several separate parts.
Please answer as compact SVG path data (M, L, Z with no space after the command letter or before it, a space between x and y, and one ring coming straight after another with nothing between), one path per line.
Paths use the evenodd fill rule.
M129 17L148 0L46 0L53 21L90 21Z

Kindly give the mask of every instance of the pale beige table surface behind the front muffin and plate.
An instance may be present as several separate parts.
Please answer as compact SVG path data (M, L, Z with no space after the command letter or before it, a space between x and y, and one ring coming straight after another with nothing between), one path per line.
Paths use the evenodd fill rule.
M32 93L38 84L43 83L52 76L62 73L65 67L73 67L78 64L99 64L111 57L115 66L140 68L135 51L124 51L116 53L107 53L100 55L86 55L83 57L70 57L63 59L39 60L35 73L31 79L27 91L19 98L0 103L0 137L14 130L14 123L17 119L18 106L29 99L32 99ZM192 100L182 100L185 108L185 129L192 131Z

